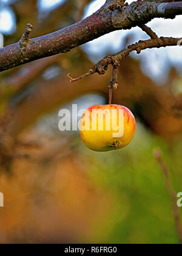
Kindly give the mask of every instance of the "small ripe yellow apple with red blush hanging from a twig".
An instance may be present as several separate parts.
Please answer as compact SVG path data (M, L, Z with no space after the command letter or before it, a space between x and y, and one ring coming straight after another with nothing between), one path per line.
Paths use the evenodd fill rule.
M87 148L93 151L121 149L132 141L135 118L122 105L93 105L84 112L79 130Z

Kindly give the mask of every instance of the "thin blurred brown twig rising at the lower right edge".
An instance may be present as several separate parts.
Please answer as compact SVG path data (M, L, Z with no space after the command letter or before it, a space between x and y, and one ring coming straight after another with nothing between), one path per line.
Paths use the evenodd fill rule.
M177 206L177 194L175 193L175 190L172 187L172 184L170 182L169 169L162 158L160 149L155 149L155 151L153 152L153 155L154 155L155 159L157 160L157 162L159 163L160 168L164 174L164 182L166 185L166 189L167 189L167 192L172 200L173 215L174 215L174 220L175 220L175 226L177 229L178 239L179 239L180 244L182 244L182 226L181 226L181 219L180 219L180 211Z

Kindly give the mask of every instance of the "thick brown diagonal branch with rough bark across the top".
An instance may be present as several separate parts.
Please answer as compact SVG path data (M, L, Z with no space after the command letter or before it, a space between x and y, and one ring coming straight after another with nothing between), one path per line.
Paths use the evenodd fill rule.
M85 20L52 34L29 40L24 51L21 51L19 43L0 49L0 71L60 52L68 52L113 30L129 29L138 24L146 24L153 18L174 18L175 15L182 14L182 2L159 4L137 1L130 5L122 5L119 10L110 10L110 5L117 2L117 0L106 1L101 9Z

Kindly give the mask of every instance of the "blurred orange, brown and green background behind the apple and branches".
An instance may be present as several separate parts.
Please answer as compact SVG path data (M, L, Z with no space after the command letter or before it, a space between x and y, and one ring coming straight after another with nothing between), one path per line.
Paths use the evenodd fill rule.
M0 47L91 15L104 0L0 0ZM158 36L182 37L182 16L155 19ZM71 84L105 55L147 39L139 28L104 35L68 54L0 73L0 243L178 243L172 202L153 157L161 148L182 191L182 48L134 52L120 66L113 103L130 108L125 149L93 152L79 132L60 132L61 108L107 104L111 70ZM182 213L182 209L180 209Z

